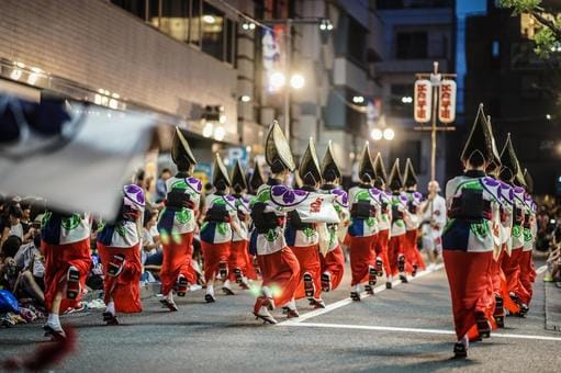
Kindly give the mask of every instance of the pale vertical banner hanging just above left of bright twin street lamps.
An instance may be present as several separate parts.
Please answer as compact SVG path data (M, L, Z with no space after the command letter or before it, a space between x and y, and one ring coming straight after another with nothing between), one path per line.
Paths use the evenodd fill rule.
M276 25L274 29L263 29L261 38L263 55L263 88L267 92L274 92L270 84L270 77L277 71L284 71L284 26Z

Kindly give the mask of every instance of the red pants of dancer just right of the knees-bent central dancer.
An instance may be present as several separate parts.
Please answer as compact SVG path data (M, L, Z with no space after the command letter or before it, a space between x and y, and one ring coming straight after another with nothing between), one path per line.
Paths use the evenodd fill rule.
M314 299L322 298L322 265L319 264L319 246L291 246L290 249L296 256L300 264L300 283L296 289L294 297L296 299L304 298L306 296L304 291L304 273L310 273L314 280Z

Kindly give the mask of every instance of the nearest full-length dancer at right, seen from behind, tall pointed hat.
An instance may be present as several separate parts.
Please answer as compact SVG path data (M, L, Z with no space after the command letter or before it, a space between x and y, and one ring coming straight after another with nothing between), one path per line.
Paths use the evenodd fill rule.
M480 105L461 160L464 173L448 181L449 223L442 256L450 285L458 342L456 358L468 355L469 342L491 332L494 309L491 283L494 239L492 218L498 208L500 183L485 176L493 160L492 134Z

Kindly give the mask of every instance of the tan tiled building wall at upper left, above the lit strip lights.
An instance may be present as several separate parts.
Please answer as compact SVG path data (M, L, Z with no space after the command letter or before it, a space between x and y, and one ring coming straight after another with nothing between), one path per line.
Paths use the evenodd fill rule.
M0 58L194 120L222 104L237 142L237 71L106 0L0 1Z

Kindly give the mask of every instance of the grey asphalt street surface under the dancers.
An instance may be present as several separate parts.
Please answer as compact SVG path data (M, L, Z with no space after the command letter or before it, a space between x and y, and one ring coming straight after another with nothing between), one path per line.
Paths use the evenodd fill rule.
M507 318L507 328L472 344L467 361L450 360L452 335L444 270L422 275L360 303L346 301L347 286L325 296L330 306L263 326L250 315L249 292L204 304L203 293L179 301L168 313L156 298L142 315L105 327L101 313L67 316L76 325L79 351L64 371L539 371L561 364L561 334L545 330L542 274L527 319ZM348 284L348 279L346 284ZM0 331L0 357L22 354L44 341L40 325ZM554 353L557 352L557 353Z

